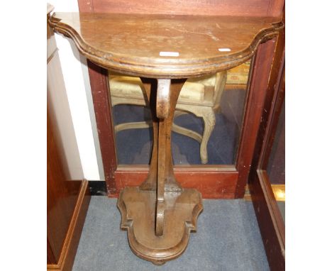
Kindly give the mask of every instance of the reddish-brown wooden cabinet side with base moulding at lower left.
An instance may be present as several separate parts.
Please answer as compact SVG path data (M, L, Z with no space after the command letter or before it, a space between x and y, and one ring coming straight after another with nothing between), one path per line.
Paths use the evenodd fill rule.
M48 270L69 271L89 206L89 189L86 180L70 181L65 178L49 115L47 162Z

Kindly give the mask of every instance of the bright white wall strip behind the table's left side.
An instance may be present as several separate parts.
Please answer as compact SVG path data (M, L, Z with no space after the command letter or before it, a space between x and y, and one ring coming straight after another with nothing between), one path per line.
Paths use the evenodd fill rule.
M54 11L78 12L77 0L52 0ZM54 12L53 11L53 12ZM55 34L84 178L104 180L87 61L69 38Z

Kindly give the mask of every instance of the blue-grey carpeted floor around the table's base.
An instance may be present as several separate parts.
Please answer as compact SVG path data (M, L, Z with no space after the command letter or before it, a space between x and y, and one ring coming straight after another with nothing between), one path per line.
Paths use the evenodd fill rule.
M204 200L204 211L187 250L157 267L129 248L116 199L92 197L73 271L103 270L270 270L250 201Z

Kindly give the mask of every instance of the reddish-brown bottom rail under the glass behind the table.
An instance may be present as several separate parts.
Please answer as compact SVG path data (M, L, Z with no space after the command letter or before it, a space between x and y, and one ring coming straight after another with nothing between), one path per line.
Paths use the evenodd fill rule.
M115 172L117 191L140 185L148 176L148 167L118 167ZM175 178L184 188L194 188L204 199L233 199L238 172L209 168L175 167ZM114 194L113 197L118 197Z

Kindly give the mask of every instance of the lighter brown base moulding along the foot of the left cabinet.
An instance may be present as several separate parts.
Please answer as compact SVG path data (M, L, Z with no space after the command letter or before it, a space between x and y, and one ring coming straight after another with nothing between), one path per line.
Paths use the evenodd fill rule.
M67 236L62 246L59 262L57 262L57 265L48 265L48 270L72 270L72 265L74 264L74 258L79 244L79 238L81 237L85 216L87 215L87 209L89 207L90 194L88 184L89 182L87 180L82 181L74 213L72 214L72 220L70 221Z

